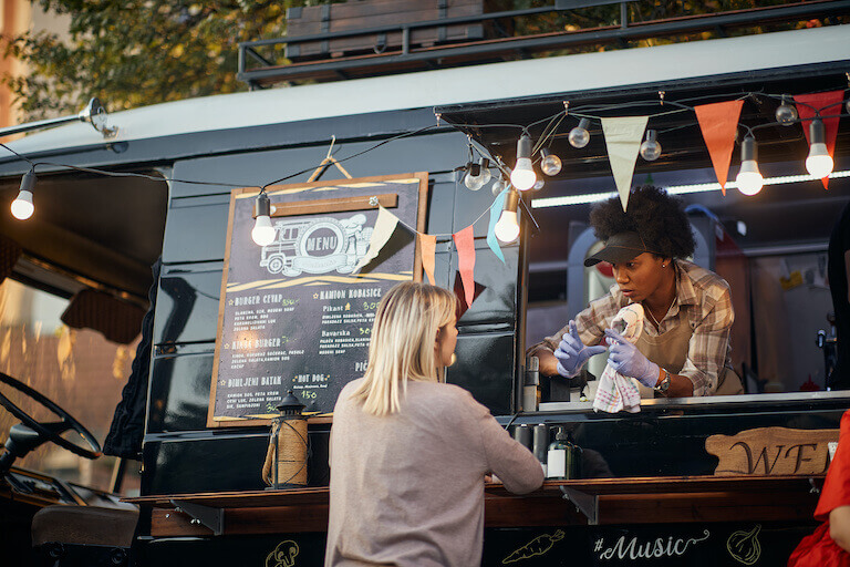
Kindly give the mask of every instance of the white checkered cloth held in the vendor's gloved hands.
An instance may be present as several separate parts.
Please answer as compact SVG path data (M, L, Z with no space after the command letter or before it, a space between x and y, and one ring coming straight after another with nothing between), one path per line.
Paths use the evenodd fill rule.
M611 321L611 328L634 344L643 332L643 306L640 303L625 306ZM625 410L638 413L641 411L641 393L631 378L624 377L608 364L599 379L593 410L608 413Z

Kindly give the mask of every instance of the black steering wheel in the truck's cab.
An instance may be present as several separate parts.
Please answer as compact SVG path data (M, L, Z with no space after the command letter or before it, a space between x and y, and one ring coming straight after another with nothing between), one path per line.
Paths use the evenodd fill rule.
M50 400L44 394L37 392L20 380L15 380L14 378L2 372L0 372L0 382L14 388L32 400L35 400L61 419L59 423L38 422L27 412L18 408L11 400L3 395L2 392L0 392L0 405L9 410L9 413L21 420L23 425L37 432L45 441L52 441L56 445L66 449L74 454L84 456L85 458L97 458L101 456L101 445L97 443L97 440L94 439L94 435L92 435L92 433L86 430L82 423L72 417L70 413L56 405L55 402ZM60 434L68 430L74 430L77 432L80 436L85 440L90 449L75 445L66 439L63 439Z

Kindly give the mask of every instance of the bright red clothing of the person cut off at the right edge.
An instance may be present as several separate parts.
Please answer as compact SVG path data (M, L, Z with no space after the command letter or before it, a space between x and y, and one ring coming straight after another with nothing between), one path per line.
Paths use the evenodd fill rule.
M850 410L841 416L838 451L829 465L815 519L823 522L788 558L788 567L850 567L850 554L829 537L829 513L850 505Z

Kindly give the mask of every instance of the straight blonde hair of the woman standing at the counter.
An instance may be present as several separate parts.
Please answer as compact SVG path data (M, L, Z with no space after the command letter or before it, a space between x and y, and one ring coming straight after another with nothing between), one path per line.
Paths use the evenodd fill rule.
M434 351L437 331L455 318L454 293L426 284L404 282L386 292L377 306L363 383L352 399L373 415L395 413L407 381L436 382Z

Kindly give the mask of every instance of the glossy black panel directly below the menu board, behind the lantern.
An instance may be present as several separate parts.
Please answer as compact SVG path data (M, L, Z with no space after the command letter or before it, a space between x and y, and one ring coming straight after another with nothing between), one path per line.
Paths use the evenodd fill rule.
M325 486L329 427L308 433L308 484ZM266 487L262 464L269 444L268 427L216 432L211 436L178 435L144 446L142 494L258 491Z

